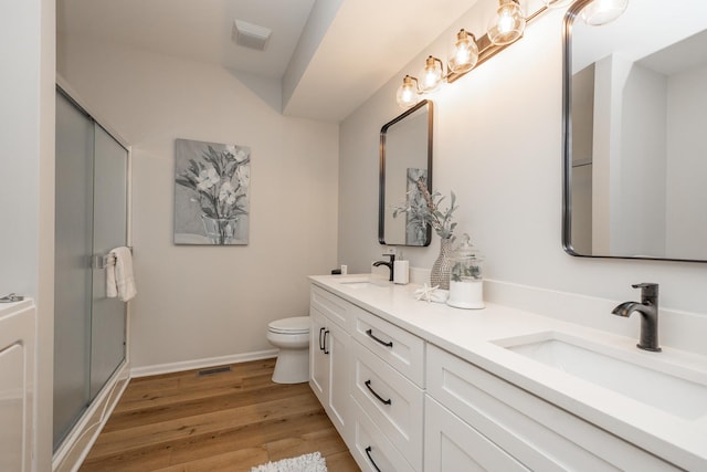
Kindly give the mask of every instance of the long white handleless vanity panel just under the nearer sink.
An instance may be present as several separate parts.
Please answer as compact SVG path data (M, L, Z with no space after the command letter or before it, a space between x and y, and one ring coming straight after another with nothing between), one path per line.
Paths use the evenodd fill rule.
M665 471L675 468L436 346L428 395L531 470Z

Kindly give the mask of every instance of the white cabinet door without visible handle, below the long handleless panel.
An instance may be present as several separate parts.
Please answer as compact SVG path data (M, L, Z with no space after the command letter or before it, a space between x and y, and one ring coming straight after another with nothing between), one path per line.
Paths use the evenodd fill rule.
M424 470L428 472L528 471L450 410L425 396Z

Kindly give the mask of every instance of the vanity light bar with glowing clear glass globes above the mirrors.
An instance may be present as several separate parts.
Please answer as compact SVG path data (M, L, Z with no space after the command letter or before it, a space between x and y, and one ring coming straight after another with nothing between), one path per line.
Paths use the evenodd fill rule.
M544 0L544 4L538 10L525 17L519 0L498 0L496 21L486 34L476 39L464 29L456 33L447 56L446 72L442 61L430 55L425 60L420 82L411 75L403 77L402 84L398 87L398 105L410 108L420 101L421 95L435 91L443 82L450 84L455 82L523 38L526 24L548 9L566 7L572 1ZM606 24L619 18L627 4L629 0L593 0L582 9L581 14L587 24Z

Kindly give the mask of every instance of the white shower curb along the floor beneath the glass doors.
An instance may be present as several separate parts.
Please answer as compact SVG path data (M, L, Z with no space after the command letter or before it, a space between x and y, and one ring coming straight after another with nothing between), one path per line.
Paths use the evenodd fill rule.
M129 365L124 363L108 379L66 439L54 452L52 471L75 472L86 459L113 409L128 385Z

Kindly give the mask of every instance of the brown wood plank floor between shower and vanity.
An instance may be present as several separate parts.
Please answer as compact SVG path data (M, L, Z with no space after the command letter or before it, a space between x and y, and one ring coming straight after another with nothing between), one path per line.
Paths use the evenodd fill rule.
M80 471L246 471L319 451L359 471L309 385L277 385L275 359L133 379Z

